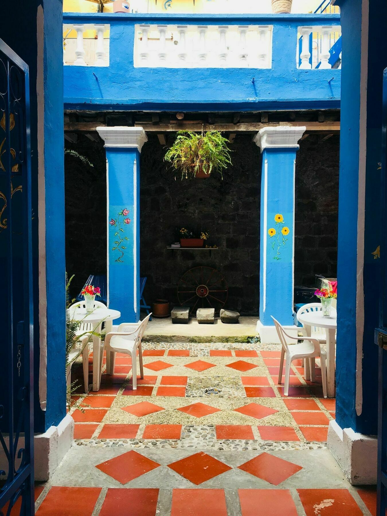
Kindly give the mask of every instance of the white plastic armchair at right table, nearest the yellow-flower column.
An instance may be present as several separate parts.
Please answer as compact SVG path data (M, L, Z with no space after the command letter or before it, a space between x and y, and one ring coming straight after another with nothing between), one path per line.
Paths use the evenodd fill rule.
M301 344L292 344L289 346L287 344L288 340L296 341L297 337L292 337L288 335L281 324L275 319L273 316L271 318L276 325L277 333L280 338L280 342L282 344L281 349L281 361L280 361L280 372L278 375L278 383L282 383L282 369L283 369L283 360L286 354L285 361L285 384L284 384L284 395L288 396L289 394L289 377L291 364L293 360L296 359L309 359L309 367L312 369L312 359L315 357L320 357L321 362L321 378L322 378L322 393L324 398L327 397L327 354L325 349L320 348L320 343L316 338L312 337L304 337L303 342Z

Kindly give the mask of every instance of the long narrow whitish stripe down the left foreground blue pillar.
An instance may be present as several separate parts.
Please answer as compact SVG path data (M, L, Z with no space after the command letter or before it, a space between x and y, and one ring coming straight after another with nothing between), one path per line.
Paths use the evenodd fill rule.
M37 11L37 79L38 101L38 238L39 238L39 402L42 410L47 402L47 291L46 291L46 214L44 173L44 14Z

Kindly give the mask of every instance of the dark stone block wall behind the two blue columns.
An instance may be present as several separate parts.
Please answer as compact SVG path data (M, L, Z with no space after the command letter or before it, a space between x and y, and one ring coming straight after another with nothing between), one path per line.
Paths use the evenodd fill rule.
M66 157L66 257L75 273L72 294L90 273L106 271L106 160L103 143L79 136L67 144L90 159L90 168ZM150 135L141 152L140 273L148 303L178 304L183 273L204 265L220 270L229 285L227 307L259 310L261 155L251 136L231 146L233 165L204 180L181 180L163 161L165 148ZM336 276L338 137L300 142L296 162L295 284L315 285L315 275ZM176 228L208 231L218 250L169 250Z

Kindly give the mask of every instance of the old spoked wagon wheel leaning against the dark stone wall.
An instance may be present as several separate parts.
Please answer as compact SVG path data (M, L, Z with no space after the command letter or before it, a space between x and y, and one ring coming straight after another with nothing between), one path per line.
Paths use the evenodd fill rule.
M190 307L192 315L196 315L198 308L215 308L215 313L219 313L227 301L228 292L224 276L212 267L193 267L178 283L179 303Z

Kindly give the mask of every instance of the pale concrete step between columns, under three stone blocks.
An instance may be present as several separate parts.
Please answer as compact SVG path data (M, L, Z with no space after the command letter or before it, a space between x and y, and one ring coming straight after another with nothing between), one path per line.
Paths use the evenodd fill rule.
M257 335L257 317L239 317L238 324L223 324L215 319L213 325L198 324L191 318L188 324L172 324L170 317L152 318L148 322L143 341L152 342L247 342Z

